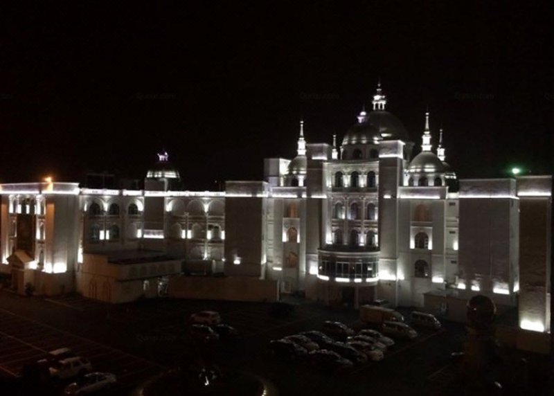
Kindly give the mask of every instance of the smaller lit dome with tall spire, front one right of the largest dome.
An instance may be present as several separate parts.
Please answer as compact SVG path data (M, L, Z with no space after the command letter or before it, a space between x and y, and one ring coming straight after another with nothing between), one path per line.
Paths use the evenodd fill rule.
M406 170L408 186L445 186L446 167L443 161L431 151L429 111L425 113L425 130L422 136L420 154L416 155ZM442 148L442 147L441 147Z

